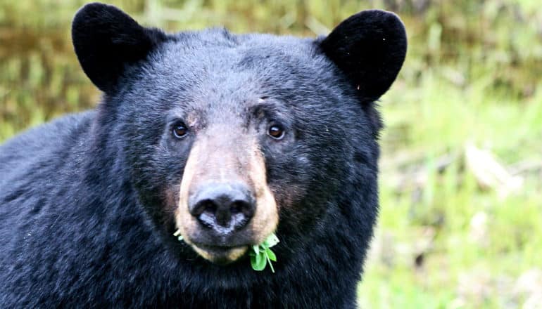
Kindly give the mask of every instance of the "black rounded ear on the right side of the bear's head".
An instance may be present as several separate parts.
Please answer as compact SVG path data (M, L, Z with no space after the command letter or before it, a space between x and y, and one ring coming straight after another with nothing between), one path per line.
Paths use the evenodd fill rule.
M380 98L405 60L407 39L394 13L369 10L347 18L320 42L322 51L351 80L361 98Z

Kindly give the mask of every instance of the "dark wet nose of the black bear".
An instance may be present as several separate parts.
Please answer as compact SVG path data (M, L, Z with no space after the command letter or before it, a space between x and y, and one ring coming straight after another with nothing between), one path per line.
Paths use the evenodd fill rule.
M188 207L203 227L227 235L248 224L256 211L256 201L242 183L213 183L197 190Z

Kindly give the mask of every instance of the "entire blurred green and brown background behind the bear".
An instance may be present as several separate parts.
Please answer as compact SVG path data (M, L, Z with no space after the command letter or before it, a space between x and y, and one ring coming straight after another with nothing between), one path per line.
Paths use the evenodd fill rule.
M409 51L382 98L382 211L363 308L542 308L542 6L537 0L118 0L170 31L326 34L395 11ZM0 0L0 141L99 92L70 21L84 1Z

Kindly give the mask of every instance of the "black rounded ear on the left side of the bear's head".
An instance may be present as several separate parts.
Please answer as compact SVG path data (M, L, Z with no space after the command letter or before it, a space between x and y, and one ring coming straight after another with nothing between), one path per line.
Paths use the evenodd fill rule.
M146 58L166 35L141 27L126 13L106 4L87 4L75 14L72 40L89 79L105 93L114 91L125 65Z

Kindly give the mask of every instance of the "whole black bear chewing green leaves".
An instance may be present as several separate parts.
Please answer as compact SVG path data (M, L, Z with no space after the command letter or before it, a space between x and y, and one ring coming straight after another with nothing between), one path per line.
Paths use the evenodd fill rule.
M355 308L395 14L298 39L88 4L72 34L103 98L0 147L3 308ZM275 272L253 270L270 235Z

